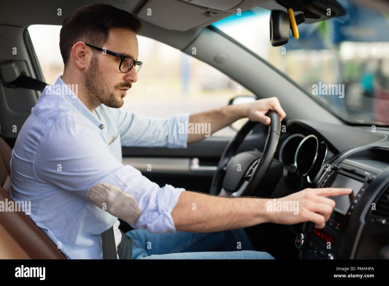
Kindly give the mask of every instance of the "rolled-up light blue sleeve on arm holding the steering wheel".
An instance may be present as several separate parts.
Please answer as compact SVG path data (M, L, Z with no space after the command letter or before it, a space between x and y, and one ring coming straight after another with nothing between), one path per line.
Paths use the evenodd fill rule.
M153 118L122 108L111 109L119 130L122 146L187 147L189 113L168 118Z

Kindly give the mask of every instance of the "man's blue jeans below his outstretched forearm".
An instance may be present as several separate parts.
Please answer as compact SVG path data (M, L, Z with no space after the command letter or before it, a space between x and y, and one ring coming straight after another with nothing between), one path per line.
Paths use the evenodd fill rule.
M274 259L255 251L243 228L223 232L126 232L133 240L132 259Z

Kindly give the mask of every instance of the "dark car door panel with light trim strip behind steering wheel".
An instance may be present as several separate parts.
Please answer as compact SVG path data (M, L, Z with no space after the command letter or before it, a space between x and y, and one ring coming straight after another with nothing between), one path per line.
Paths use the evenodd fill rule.
M159 186L171 184L208 193L217 163L230 140L228 137L209 137L177 149L122 146L123 164L137 168ZM263 150L265 142L264 132L247 135L238 152Z

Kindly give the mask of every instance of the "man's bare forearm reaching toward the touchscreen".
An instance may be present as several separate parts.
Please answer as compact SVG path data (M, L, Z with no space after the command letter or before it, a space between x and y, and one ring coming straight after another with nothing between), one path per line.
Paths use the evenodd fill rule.
M263 198L225 198L184 191L172 210L177 231L217 232L270 222Z

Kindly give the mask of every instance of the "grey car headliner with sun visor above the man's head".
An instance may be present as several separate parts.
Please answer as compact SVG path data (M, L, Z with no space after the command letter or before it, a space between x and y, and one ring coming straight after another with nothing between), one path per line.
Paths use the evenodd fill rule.
M120 3L122 1L123 3ZM196 1L202 6L212 8L200 7L186 1L189 0L40 0L39 4L26 0L4 1L1 4L0 25L16 27L36 24L62 25L63 19L82 5L110 4L131 12L142 20L144 27L140 35L183 50L197 37L202 28L235 14L237 8L242 11L253 7L286 11L273 0L191 0L191 3ZM366 3L366 0L358 1ZM372 2L369 0L369 5ZM382 0L375 0L374 4L380 5L380 9L385 6ZM389 5L385 4L389 11ZM145 15L149 8L153 13L152 16ZM57 15L58 9L61 9L61 16ZM210 16L210 12L213 12L213 16ZM268 29L268 27L261 28Z

